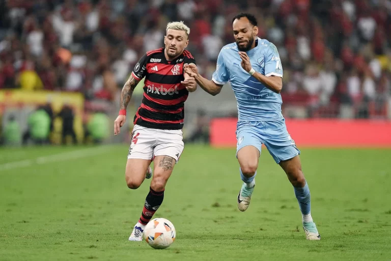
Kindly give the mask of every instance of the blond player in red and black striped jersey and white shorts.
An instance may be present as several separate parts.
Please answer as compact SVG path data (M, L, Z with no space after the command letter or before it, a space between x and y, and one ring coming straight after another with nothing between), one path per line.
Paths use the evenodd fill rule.
M130 241L142 241L143 231L164 197L164 188L183 151L182 127L184 102L189 92L197 89L193 77L184 72L185 64L194 64L190 52L190 29L183 22L167 24L164 48L148 51L135 65L121 94L119 116L114 122L114 134L126 120L126 107L134 88L145 77L144 96L134 116L131 145L125 169L130 189L137 189L145 178L151 178L150 192Z

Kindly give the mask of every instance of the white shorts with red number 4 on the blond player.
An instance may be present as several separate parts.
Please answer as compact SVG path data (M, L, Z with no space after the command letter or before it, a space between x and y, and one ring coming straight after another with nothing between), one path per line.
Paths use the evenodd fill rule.
M178 162L183 148L181 129L155 129L134 125L128 159L153 160L155 156L170 156Z

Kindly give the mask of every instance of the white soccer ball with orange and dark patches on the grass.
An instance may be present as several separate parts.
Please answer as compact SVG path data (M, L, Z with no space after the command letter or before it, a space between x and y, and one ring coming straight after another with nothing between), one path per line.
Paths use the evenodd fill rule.
M176 231L165 218L152 219L144 228L143 238L153 248L164 249L174 243Z

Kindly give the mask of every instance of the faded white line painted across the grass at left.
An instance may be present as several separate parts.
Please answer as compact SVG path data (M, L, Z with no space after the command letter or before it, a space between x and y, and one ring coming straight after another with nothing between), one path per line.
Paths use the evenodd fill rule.
M59 162L59 161L68 161L68 160L76 160L80 158L87 158L89 156L102 154L103 152L107 152L110 149L110 146L100 146L96 148L88 148L88 149L80 149L62 152L58 154L48 155L48 156L40 156L36 159L31 160L23 160L23 161L14 161L9 163L0 164L0 171L29 167L33 164L45 164L50 162Z

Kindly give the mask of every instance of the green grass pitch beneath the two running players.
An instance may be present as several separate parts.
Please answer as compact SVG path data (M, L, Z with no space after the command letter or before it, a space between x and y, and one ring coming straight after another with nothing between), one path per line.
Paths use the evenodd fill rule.
M238 211L235 149L185 146L155 217L175 243L128 237L149 180L132 191L128 147L0 149L0 260L391 260L391 150L302 149L322 240L305 240L292 186L262 151L252 203Z

